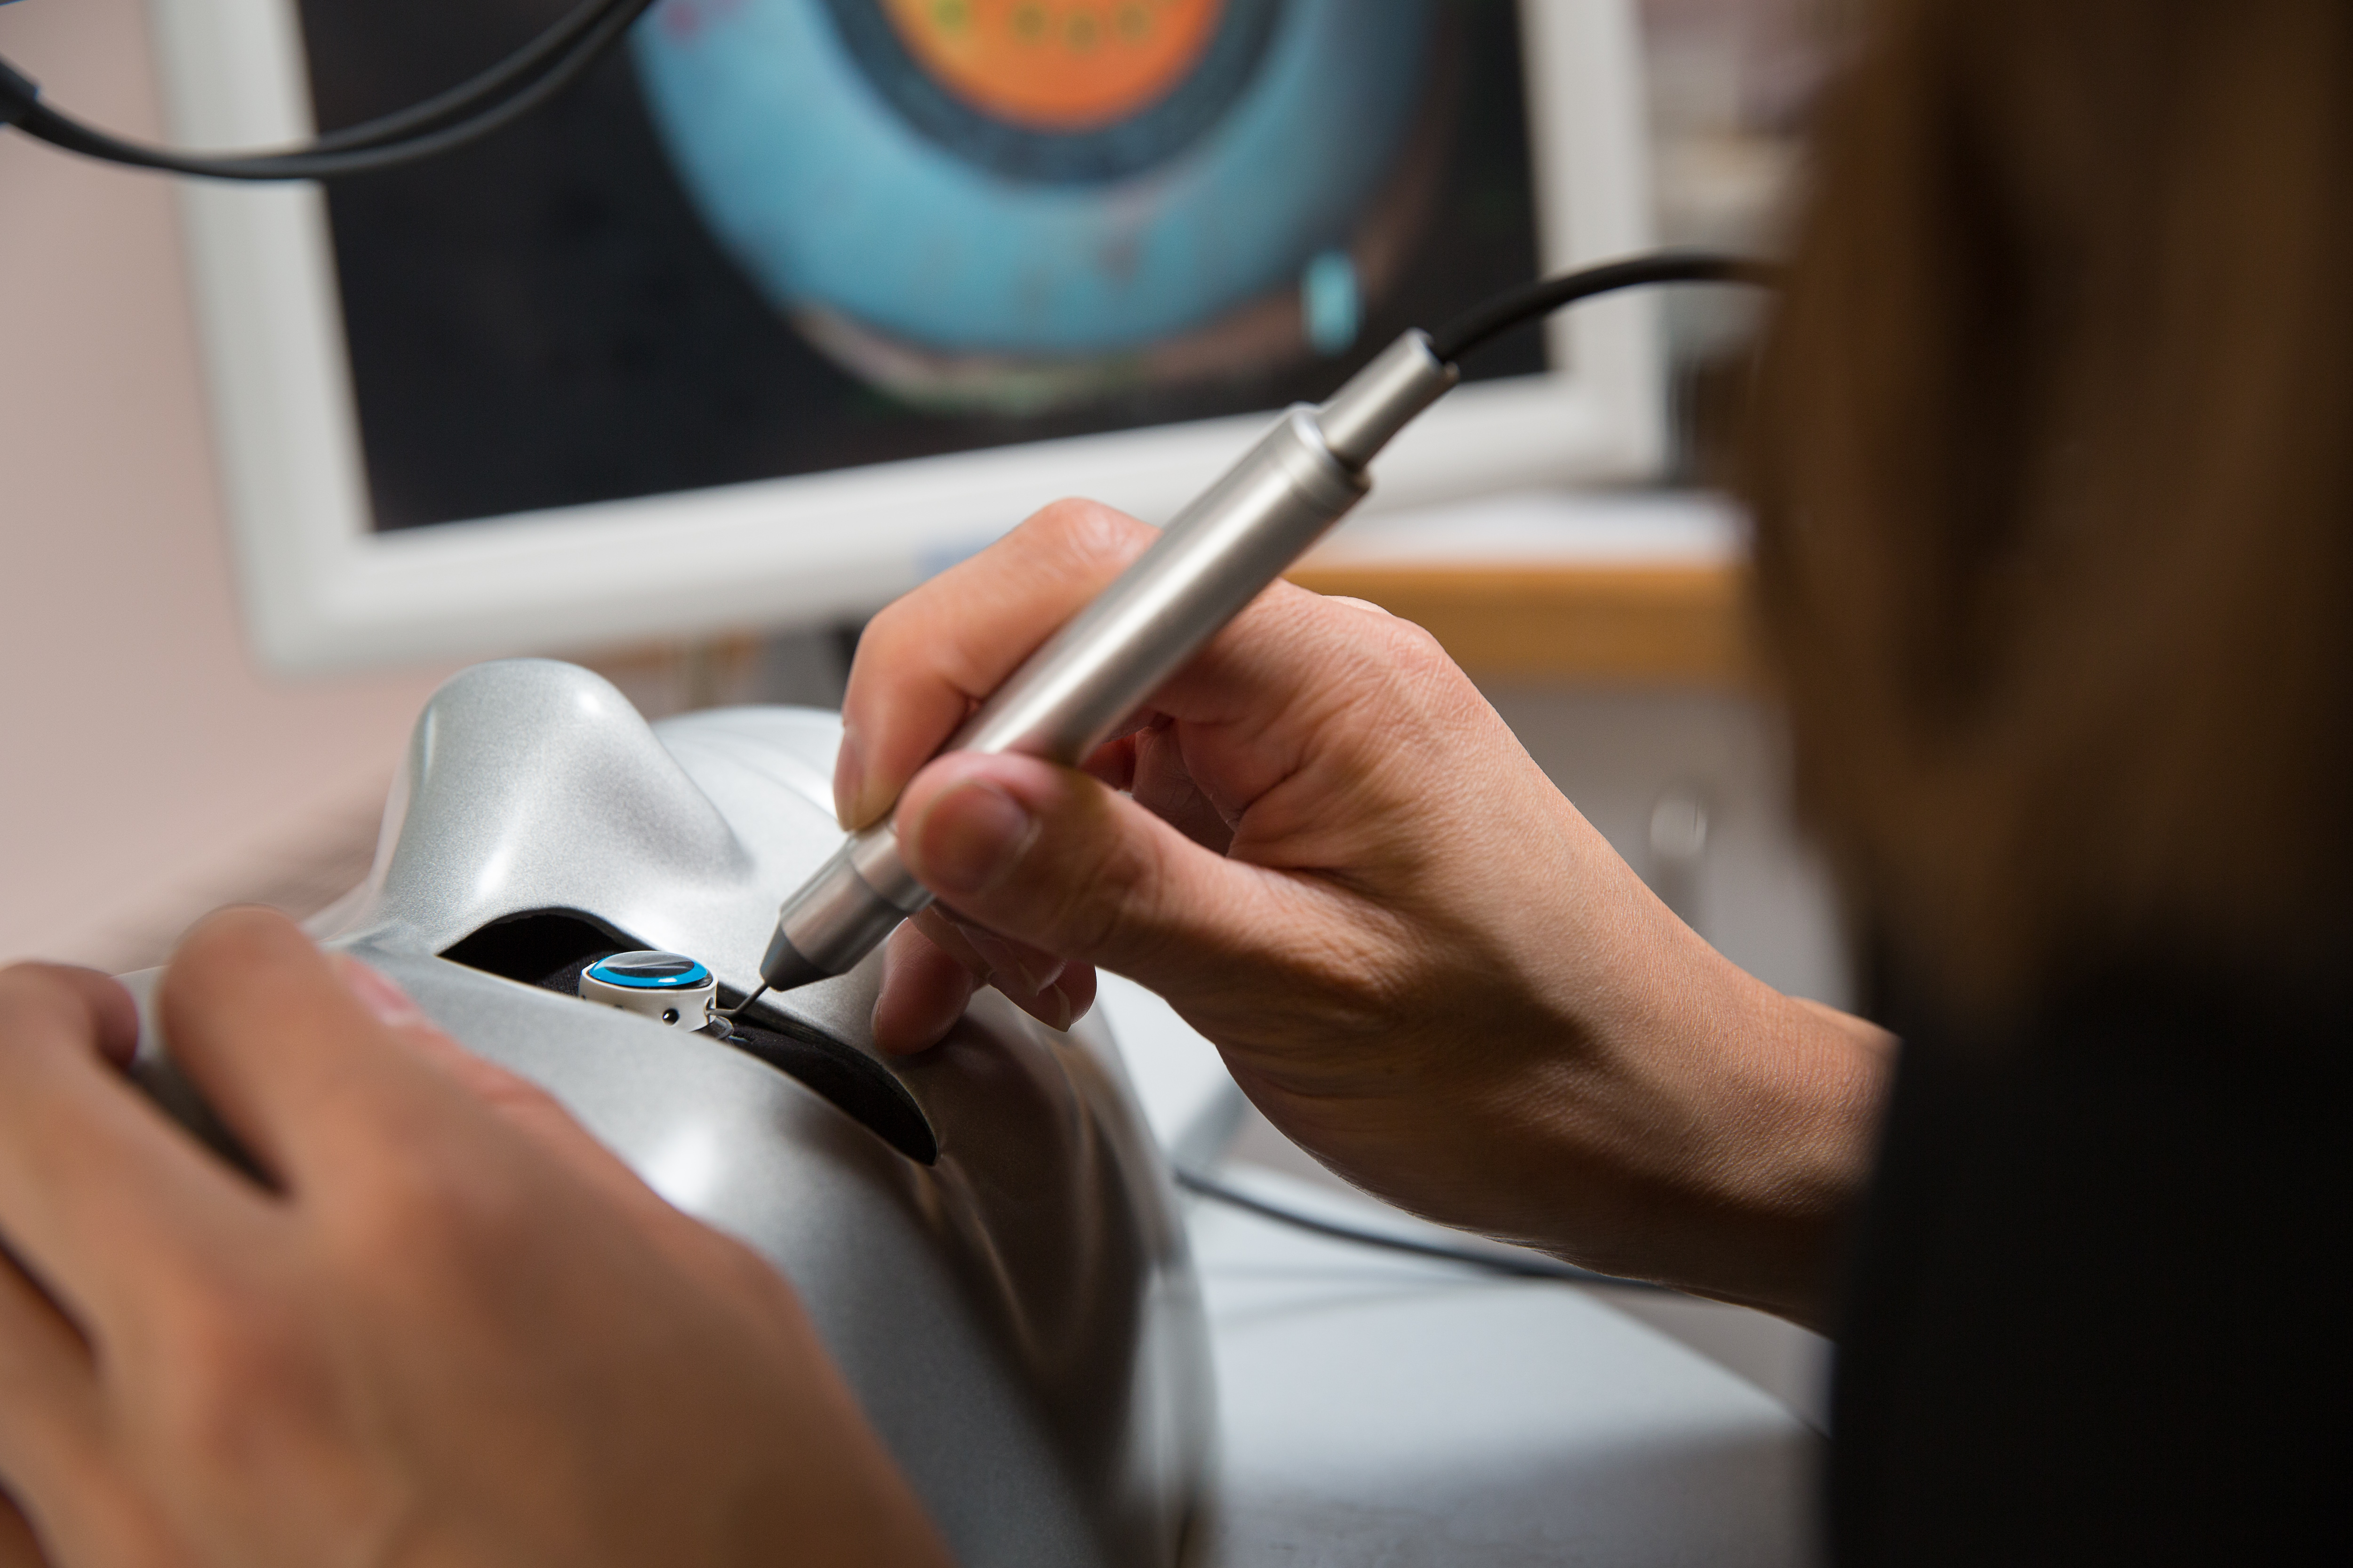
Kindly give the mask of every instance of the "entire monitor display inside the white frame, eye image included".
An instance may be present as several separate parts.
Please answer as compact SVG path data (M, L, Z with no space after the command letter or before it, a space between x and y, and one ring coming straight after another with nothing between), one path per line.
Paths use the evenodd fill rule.
M315 118L560 9L306 0ZM1541 261L1511 0L664 0L327 212L376 531L1273 409Z

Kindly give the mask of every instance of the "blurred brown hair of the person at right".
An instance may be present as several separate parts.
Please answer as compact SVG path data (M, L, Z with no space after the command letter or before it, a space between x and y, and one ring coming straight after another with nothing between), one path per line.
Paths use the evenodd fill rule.
M1800 797L1960 1004L2353 905L2353 5L1887 0L1751 409Z

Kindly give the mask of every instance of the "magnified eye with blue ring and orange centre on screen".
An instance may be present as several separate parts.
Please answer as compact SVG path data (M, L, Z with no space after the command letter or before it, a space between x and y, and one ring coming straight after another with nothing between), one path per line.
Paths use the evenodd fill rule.
M812 341L915 402L1035 407L1351 348L1358 249L1391 270L1381 219L1428 197L1395 174L1433 9L671 0L638 61Z

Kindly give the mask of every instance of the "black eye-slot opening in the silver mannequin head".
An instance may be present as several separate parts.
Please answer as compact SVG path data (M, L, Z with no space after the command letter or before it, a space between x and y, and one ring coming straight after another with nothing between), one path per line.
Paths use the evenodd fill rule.
M647 943L635 936L581 910L527 910L459 938L440 957L576 997L584 969L614 952L645 947ZM720 1006L732 1009L741 1001L744 992L720 987ZM760 1004L734 1020L725 1044L824 1095L908 1159L925 1166L939 1159L939 1135L915 1105L915 1095L892 1077L889 1067L849 1041Z

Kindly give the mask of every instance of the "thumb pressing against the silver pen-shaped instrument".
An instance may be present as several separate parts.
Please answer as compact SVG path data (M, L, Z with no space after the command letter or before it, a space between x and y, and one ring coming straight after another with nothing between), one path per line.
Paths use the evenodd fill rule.
M896 811L899 853L969 922L1144 985L1219 964L1264 924L1268 872L1228 860L1078 769L951 752Z

